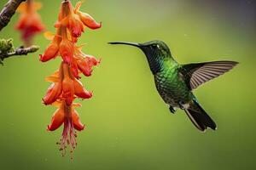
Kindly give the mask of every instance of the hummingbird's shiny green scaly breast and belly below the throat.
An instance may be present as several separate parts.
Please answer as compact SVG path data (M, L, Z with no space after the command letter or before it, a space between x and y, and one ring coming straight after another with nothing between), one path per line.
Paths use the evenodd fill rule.
M179 102L189 102L191 92L179 75L178 65L154 74L154 82L166 104L179 107Z

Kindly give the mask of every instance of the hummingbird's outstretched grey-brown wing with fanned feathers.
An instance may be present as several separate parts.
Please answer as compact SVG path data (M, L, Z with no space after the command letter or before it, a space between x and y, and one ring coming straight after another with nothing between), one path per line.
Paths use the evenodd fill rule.
M182 65L181 74L188 87L193 90L204 82L230 71L238 63L236 61L212 61Z

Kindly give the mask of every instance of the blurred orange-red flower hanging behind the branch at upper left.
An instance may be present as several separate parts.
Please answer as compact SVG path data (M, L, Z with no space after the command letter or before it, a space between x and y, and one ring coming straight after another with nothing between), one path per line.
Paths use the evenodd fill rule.
M26 2L20 3L17 9L20 12L20 20L15 28L22 32L21 39L26 46L31 45L32 37L35 34L44 30L40 15L37 13L39 8L41 8L41 3L26 0Z

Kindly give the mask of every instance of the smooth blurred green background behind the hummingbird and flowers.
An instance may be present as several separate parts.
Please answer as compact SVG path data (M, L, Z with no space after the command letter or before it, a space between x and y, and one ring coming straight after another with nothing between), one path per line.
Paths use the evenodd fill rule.
M1 0L0 7L7 0ZM41 1L47 31L55 31L61 1ZM72 1L73 4L78 1ZM41 34L36 54L12 57L0 66L1 169L255 169L256 24L254 1L86 0L82 10L102 21L80 38L86 54L102 58L92 77L83 77L94 97L78 109L87 129L79 133L74 161L61 157L55 142L62 128L47 132L55 107L44 106L44 77L61 59L41 63L49 43ZM14 30L18 14L0 32ZM200 133L183 111L172 115L154 87L143 53L107 42L166 42L181 63L231 59L234 70L195 90L218 130Z

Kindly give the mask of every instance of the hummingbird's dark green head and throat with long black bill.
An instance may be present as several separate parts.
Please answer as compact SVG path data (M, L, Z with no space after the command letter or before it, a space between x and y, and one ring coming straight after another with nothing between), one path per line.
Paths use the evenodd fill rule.
M153 74L161 71L165 59L172 59L170 49L165 42L154 40L150 42L134 43L134 42L108 42L110 44L131 45L143 50L148 59L150 70Z

